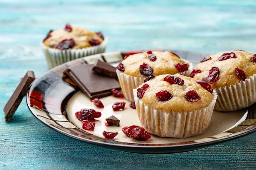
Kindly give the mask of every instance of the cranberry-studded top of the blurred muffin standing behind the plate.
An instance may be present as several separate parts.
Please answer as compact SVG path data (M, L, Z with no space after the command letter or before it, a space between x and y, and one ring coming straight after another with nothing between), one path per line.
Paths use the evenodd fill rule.
M103 40L104 37L101 32L94 33L79 26L71 27L67 24L64 29L49 31L43 43L51 48L67 50L99 45Z

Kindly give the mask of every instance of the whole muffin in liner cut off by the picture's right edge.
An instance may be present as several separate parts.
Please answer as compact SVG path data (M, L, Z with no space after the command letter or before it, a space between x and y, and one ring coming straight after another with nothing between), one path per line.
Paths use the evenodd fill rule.
M236 111L256 102L256 54L234 50L210 55L190 76L209 82L215 89L216 111Z

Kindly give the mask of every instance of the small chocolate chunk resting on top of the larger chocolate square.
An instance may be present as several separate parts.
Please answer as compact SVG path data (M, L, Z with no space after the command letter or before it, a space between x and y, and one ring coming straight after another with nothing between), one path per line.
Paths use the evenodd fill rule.
M108 77L116 78L116 68L112 65L109 65L107 62L102 62L101 60L97 60L93 65L93 71L96 71L100 74L104 74Z

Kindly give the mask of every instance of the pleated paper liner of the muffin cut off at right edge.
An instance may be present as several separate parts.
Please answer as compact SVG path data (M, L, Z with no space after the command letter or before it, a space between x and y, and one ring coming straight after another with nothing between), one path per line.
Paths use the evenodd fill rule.
M256 74L235 85L215 88L218 99L214 110L236 111L256 102Z

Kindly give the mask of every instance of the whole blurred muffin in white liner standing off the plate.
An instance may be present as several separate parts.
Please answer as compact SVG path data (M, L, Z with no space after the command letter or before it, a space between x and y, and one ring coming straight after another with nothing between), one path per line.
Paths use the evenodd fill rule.
M41 46L49 68L53 68L73 59L105 52L107 41L101 32L67 24L64 29L49 31Z

